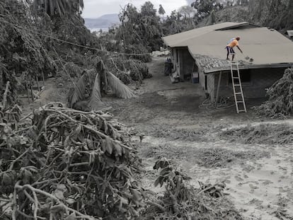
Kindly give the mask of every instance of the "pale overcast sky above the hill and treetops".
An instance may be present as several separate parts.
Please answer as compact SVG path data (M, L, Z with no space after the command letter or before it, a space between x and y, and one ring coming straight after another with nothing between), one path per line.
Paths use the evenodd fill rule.
M82 16L84 18L98 18L107 13L119 13L121 7L123 8L128 3L133 4L138 9L144 4L146 0L84 0L84 11ZM156 10L161 4L167 14L171 11L188 4L187 0L151 0Z

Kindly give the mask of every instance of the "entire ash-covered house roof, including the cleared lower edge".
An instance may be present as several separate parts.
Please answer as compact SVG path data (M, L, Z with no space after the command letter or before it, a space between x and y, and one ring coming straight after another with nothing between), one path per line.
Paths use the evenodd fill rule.
M190 54L206 73L229 69L226 43L241 36L236 57L241 68L264 68L293 65L293 42L276 30L248 26L248 23L222 23L163 37L169 47L188 47ZM196 31L195 31L196 30ZM246 62L245 57L253 58Z

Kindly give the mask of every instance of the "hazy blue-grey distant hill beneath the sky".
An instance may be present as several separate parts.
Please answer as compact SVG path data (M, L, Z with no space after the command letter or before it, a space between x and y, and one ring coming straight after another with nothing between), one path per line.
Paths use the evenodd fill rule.
M117 13L106 14L99 18L84 18L84 21L88 29L109 28L115 23L120 23Z

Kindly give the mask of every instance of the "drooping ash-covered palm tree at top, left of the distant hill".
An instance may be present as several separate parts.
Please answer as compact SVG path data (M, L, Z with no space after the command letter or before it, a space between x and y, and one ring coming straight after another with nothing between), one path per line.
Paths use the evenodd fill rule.
M81 54L87 54L88 56L94 54L93 50L76 47L73 44L100 49L98 38L86 28L84 18L81 17L84 8L83 0L34 0L33 6L36 21L44 21L47 17L50 20L47 25L40 23L38 28L45 26L46 28L43 28L45 34L54 35L55 38L63 40L62 42L52 40L48 47L52 56L55 56L57 60L59 60L59 57L65 57L65 59L62 58L63 62L82 64L84 57L81 57ZM50 28L52 33L47 33L46 29ZM64 41L71 44L64 43ZM62 67L60 61L57 64Z

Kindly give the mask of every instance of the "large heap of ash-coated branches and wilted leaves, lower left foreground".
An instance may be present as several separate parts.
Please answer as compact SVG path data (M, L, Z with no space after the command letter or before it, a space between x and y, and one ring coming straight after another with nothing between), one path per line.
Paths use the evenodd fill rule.
M31 124L21 129L0 123L1 218L137 216L142 206L139 158L130 134L113 115L61 103L32 115Z

